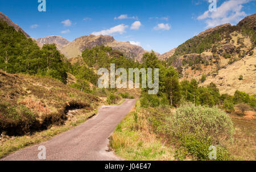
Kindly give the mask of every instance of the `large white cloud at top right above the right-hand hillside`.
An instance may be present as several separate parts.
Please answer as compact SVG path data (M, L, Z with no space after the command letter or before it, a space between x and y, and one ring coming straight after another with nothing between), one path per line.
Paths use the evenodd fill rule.
M205 20L206 28L215 27L225 23L236 24L246 16L244 11L241 11L243 4L251 0L229 0L221 4L216 12L205 11L204 14L197 17L197 20Z

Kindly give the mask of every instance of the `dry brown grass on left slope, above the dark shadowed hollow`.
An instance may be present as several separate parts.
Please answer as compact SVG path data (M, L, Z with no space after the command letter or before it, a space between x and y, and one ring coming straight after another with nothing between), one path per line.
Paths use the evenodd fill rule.
M55 113L76 100L97 107L101 100L49 77L0 72L1 102L23 104L36 115Z

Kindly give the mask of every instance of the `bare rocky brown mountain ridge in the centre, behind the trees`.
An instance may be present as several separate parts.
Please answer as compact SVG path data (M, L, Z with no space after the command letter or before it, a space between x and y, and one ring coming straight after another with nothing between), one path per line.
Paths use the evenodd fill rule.
M122 41L116 41L112 36L94 36L94 35L88 35L88 36L82 36L75 40L73 40L68 45L65 45L60 51L65 54L66 57L72 58L81 56L82 51L87 49L92 49L93 47L97 47L100 45L105 45L112 47L115 50L123 52L127 57L134 58L135 60L141 61L142 56L145 51L142 47L138 45L132 45L128 41L122 42ZM156 53L157 56L160 56L159 53Z

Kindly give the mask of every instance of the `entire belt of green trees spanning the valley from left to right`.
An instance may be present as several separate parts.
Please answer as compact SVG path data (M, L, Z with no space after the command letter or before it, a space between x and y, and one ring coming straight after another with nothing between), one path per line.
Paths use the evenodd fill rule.
M213 37L210 36L211 40L220 39L217 36L220 31L214 33ZM224 31L222 32L224 33ZM184 44L185 47L186 44ZM183 45L181 49L182 47ZM116 68L125 68L127 73L129 68L151 68L153 73L154 69L158 68L159 93L157 96L159 102L162 99L162 102L171 106L178 106L181 100L209 107L224 104L225 107L230 109L232 109L232 104L241 102L250 104L253 107L256 104L255 95L250 97L240 91L237 91L234 97L231 98L228 95L220 95L214 83L210 83L207 87L199 87L196 79L179 82L177 70L160 61L153 51L145 53L142 58L142 64L140 64L139 62L134 62L133 59L125 57L123 53L102 45L92 49L85 49L82 52L82 60L71 65L64 55L57 51L55 44L46 44L40 49L35 41L27 38L22 32L15 31L6 22L0 21L0 69L8 73L49 75L63 83L67 83L67 72L69 72L77 78L77 83L73 87L88 92L88 82L93 83L93 85L97 83L98 75L95 69L110 69L110 64L115 64ZM201 82L204 82L204 80L205 78ZM148 89L142 89L142 94L146 95L147 91ZM155 97L152 98L152 100L156 99Z

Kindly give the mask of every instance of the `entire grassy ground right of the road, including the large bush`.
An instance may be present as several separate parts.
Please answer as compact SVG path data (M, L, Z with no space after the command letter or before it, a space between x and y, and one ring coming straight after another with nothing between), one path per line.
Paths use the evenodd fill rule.
M189 114L189 110L168 106L141 108L138 100L133 111L115 129L110 146L125 160L209 160L210 145L217 147L217 160L256 160L255 119L228 115L217 108L196 107L192 108L192 116L199 115L199 118L184 116L179 120L180 114ZM201 114L208 119L204 115L201 118ZM200 119L198 124L197 119ZM179 127L182 125L190 129ZM199 131L190 132L191 127L200 129L200 135L195 134Z

